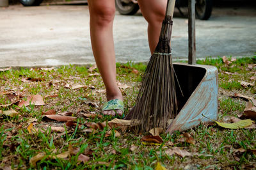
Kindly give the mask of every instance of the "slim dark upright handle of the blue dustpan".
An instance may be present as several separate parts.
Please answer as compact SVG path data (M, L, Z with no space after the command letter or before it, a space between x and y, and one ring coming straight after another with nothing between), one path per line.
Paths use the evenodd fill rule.
M196 64L195 0L188 1L188 63Z

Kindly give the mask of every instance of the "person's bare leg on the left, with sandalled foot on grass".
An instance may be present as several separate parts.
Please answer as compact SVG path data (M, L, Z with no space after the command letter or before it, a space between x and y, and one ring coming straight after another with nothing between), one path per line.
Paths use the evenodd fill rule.
M114 0L88 0L92 50L100 75L106 86L107 99L120 99L122 93L116 84L116 62L113 41ZM122 115L122 111L118 110ZM104 111L103 114L115 114Z

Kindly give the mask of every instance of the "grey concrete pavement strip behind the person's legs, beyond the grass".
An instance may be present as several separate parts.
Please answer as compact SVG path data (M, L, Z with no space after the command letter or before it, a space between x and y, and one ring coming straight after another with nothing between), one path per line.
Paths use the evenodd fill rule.
M214 9L211 19L196 20L196 57L253 56L256 10ZM224 12L223 12L224 11ZM179 13L176 13L179 15ZM173 58L188 58L188 20L173 21ZM140 13L114 23L116 61L148 61L147 22ZM0 8L0 67L94 63L88 6L21 5Z

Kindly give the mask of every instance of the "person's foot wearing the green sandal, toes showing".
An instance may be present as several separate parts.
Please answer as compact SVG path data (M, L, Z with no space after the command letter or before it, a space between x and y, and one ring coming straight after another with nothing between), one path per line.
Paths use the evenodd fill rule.
M120 89L116 90L116 93L108 93L108 91L107 91L107 100L108 100L108 102L111 101L111 100L115 100L115 99L118 99L121 102L123 101L123 97L122 97L122 93L121 93ZM106 106L106 105L108 105L108 104L104 104L104 106ZM118 105L118 104L116 104L116 105ZM122 105L124 107L124 103ZM103 108L102 109L102 114L111 115L111 116L118 115L118 116L122 117L123 114L124 114L124 108L120 108L120 109L118 109L118 107L116 107L116 109L114 109L114 108L115 107L113 107L113 109L108 108L108 109L105 109L105 110Z

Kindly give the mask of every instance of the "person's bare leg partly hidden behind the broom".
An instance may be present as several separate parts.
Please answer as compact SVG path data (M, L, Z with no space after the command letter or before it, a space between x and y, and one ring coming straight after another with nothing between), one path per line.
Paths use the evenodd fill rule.
M141 13L148 22L148 44L151 54L156 49L167 0L138 0Z

